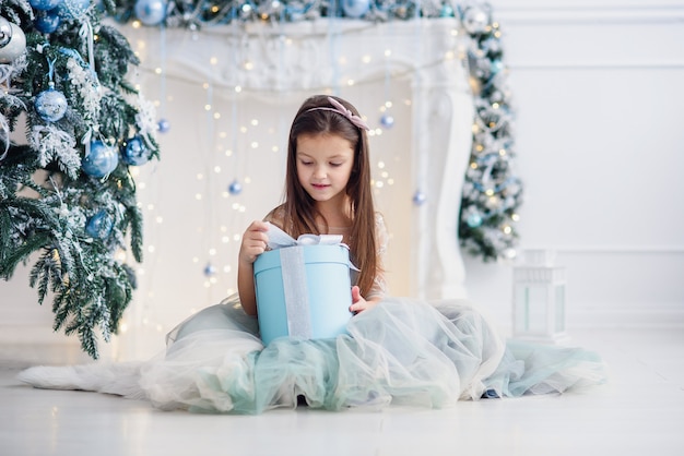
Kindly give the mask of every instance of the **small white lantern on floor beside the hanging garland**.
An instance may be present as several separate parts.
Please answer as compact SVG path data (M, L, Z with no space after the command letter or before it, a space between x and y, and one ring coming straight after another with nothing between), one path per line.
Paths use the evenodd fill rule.
M553 252L526 251L514 266L514 338L559 344L565 327L565 267L553 265Z

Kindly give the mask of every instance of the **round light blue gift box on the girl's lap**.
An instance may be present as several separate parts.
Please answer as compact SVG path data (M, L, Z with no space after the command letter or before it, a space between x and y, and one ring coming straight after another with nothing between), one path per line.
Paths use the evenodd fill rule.
M271 250L255 262L261 340L335 337L345 332L352 304L349 248L295 245Z

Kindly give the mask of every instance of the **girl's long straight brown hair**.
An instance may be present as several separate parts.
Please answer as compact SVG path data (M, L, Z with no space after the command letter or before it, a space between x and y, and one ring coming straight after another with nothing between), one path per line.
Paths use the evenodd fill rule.
M331 97L346 109L359 116L349 101ZM351 202L352 230L350 249L352 260L361 269L356 285L362 295L373 287L378 274L375 207L370 189L370 160L368 157L368 136L366 131L354 125L341 113L314 108L332 108L328 95L315 95L304 101L297 111L287 142L287 169L285 175L285 202L283 227L294 238L304 233L321 235L316 219L322 219L328 229L328 221L316 209L315 200L304 190L297 177L297 137L302 134L335 134L347 140L354 148L354 166L346 184L346 195ZM359 116L361 117L361 116Z

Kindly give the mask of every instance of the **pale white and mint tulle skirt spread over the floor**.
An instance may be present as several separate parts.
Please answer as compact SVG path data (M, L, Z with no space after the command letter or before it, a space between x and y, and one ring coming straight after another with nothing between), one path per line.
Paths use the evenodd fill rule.
M353 316L347 334L318 340L285 337L267 347L257 320L233 298L178 325L166 351L139 363L134 374L129 363L120 385L111 373L115 367L108 367L106 388L98 385L97 370L104 368L97 365L91 368L90 381L79 384L76 375L70 385L107 393L119 388L121 395L148 398L162 409L233 413L303 401L329 410L390 404L443 408L459 399L564 392L605 381L597 353L504 343L468 302L397 298ZM39 369L46 368L24 371L20 380L69 387L45 383L55 372Z

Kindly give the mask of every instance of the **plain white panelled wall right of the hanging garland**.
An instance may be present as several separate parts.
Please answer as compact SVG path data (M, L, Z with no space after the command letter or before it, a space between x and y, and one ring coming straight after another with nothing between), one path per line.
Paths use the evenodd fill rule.
M683 325L684 2L492 3L518 112L521 247L567 267L570 332ZM506 313L509 267L467 271L471 298Z

